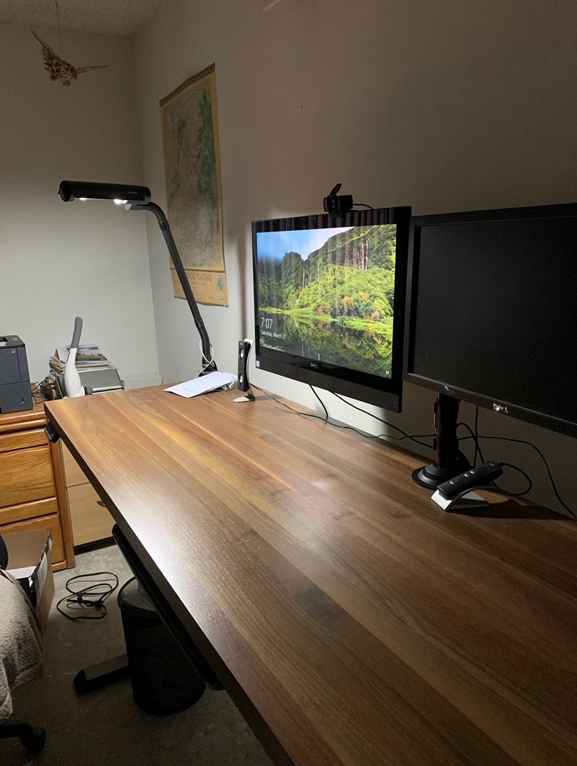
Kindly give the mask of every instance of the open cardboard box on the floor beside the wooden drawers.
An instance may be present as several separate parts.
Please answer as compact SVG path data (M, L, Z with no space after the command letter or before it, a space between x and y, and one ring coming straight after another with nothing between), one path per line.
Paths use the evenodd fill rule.
M2 538L8 551L6 571L24 588L44 627L54 598L52 534L38 529L8 532Z

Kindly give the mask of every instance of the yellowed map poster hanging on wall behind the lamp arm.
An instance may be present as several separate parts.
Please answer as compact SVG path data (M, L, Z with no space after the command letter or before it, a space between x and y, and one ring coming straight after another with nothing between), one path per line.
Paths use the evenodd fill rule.
M228 306L214 64L160 103L167 216L197 303ZM174 296L184 298L171 264Z

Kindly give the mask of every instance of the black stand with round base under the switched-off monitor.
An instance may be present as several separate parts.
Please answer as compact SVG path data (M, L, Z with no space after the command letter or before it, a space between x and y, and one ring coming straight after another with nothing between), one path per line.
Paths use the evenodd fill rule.
M471 463L459 451L457 417L460 401L448 394L435 399L435 449L437 460L412 472L412 480L419 486L436 489L439 484L471 468Z

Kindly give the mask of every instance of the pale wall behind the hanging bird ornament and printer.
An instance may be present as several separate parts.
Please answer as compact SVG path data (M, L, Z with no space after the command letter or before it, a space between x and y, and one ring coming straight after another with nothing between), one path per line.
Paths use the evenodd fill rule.
M35 31L60 47L57 30ZM68 61L106 69L51 82L28 26L0 25L0 334L21 337L40 381L78 315L83 341L123 378L154 383L145 214L57 197L64 178L142 182L132 44L68 31L63 41Z

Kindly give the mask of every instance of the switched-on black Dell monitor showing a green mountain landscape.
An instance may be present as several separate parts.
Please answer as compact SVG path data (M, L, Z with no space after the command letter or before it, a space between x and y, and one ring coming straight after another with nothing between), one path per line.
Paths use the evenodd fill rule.
M253 221L257 368L399 412L410 215Z

